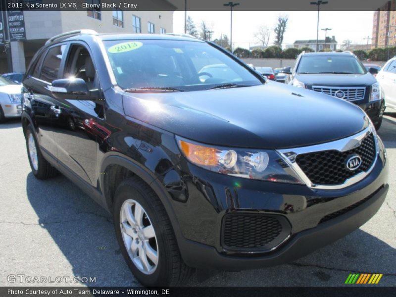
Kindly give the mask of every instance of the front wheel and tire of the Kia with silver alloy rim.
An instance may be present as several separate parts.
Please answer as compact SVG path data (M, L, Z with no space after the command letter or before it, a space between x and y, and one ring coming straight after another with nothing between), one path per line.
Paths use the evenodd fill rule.
M141 216L137 212L140 208L143 211L140 212L143 213ZM131 212L128 220L126 212L129 210ZM129 221L136 222L136 217L143 217L140 225L129 223ZM184 263L180 255L164 206L152 189L140 178L128 178L118 186L114 197L113 218L121 252L132 273L142 285L177 286L191 277L194 270ZM148 236L142 232L143 228L149 230ZM128 235L132 234L131 232L133 236ZM126 246L131 248L127 249ZM132 251L133 246L135 251ZM142 253L146 261L141 260L139 251L148 251ZM144 262L146 266L142 264Z

